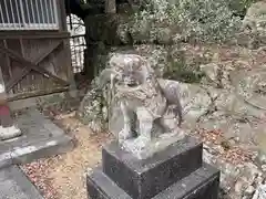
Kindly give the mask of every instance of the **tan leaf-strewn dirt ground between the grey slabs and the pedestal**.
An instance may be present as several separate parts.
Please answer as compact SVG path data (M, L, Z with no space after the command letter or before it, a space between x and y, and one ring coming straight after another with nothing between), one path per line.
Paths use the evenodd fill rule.
M45 199L86 199L85 172L101 161L101 146L111 136L93 134L73 117L55 123L73 136L75 148L64 155L22 166Z

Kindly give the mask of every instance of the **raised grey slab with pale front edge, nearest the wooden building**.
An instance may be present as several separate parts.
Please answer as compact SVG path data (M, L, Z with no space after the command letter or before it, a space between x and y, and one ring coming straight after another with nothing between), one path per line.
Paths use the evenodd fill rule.
M0 142L0 168L27 164L73 148L71 137L37 109L24 111L16 118L16 124L22 136Z

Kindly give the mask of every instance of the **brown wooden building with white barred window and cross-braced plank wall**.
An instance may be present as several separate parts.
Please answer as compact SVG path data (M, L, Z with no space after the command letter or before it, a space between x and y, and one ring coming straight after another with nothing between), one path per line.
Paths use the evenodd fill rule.
M9 102L73 88L64 0L0 0L0 83Z

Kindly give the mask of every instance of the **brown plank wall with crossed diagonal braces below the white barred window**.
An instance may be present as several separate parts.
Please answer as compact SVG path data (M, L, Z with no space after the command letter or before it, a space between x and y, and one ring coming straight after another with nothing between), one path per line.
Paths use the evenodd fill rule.
M0 67L9 101L66 91L72 81L69 34L0 38Z

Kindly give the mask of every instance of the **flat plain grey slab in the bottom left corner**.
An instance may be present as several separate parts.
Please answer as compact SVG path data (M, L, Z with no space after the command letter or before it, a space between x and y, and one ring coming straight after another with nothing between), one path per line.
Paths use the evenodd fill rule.
M18 166L0 170L1 199L43 199Z

